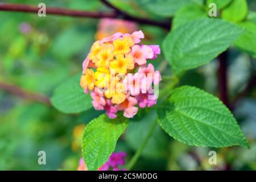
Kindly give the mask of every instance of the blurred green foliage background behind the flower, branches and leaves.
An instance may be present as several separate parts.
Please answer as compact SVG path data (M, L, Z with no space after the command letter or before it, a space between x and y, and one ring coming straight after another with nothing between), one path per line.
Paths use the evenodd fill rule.
M65 0L0 1L65 7L89 11L108 11L99 1ZM138 0L117 1L115 5L137 16L161 19L141 9ZM248 1L251 10L255 1ZM67 78L82 71L82 61L95 41L99 20L64 16L39 17L36 14L0 11L0 81L23 90L51 97L53 90ZM162 44L166 31L137 25L146 34L145 42ZM160 56L155 64L163 61ZM195 85L217 93L217 61L189 71L180 85ZM246 85L250 72L256 70L255 60L232 48L229 51L229 92L233 97ZM170 68L166 72L170 72ZM170 73L169 73L170 74ZM160 127L142 153L134 169L196 170L252 169L256 170L256 90L243 98L234 115L240 122L251 149L191 147L168 137ZM81 134L91 119L101 114L94 109L82 114L63 114L52 106L29 101L0 89L0 170L76 170L81 158ZM146 116L146 117L145 117ZM146 135L148 123L155 111L141 111L123 137L117 151L134 154ZM145 132L144 132L145 131ZM145 134L144 134L145 133ZM46 151L47 164L38 164L38 152ZM208 152L216 150L216 166L208 164Z

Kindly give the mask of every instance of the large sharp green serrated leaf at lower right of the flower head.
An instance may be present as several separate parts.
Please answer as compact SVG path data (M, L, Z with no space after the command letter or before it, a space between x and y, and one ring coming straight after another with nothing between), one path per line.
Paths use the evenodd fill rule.
M180 142L203 147L249 147L236 119L218 98L192 86L173 90L158 110L163 129Z

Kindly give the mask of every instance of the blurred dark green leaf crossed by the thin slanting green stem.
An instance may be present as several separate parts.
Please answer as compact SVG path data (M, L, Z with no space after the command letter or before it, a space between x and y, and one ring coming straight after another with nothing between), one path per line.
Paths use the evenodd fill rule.
M131 119L127 131L125 134L126 141L133 150L138 150L138 148L143 143L148 130L150 130L151 125L157 119L156 111L151 110L148 114L143 114L139 121L134 121ZM163 133L163 130L158 125L152 134L152 137L148 140L146 147L142 152L142 156L148 158L161 158L166 152L167 138Z

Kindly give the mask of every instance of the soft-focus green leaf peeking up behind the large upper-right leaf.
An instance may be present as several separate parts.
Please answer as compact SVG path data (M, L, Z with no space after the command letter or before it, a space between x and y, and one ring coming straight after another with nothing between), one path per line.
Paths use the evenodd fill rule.
M172 21L172 28L175 29L199 18L207 18L204 10L200 9L197 5L184 6L175 14L174 20Z

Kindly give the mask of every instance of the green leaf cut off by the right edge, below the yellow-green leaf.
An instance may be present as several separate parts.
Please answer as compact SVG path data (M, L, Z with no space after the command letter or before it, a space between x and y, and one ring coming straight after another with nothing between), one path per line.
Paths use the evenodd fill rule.
M245 28L245 34L239 38L234 45L252 55L256 56L256 24L254 22L242 22L238 24Z

